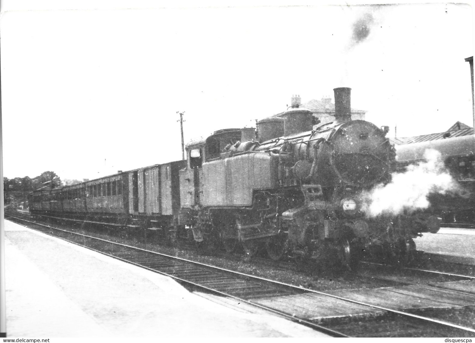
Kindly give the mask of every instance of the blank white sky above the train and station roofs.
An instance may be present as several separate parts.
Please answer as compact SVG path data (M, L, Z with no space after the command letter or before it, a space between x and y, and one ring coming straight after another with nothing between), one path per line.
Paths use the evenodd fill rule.
M180 160L177 111L186 143L340 86L390 136L396 124L400 137L472 126L467 4L236 3L3 1L3 176L82 180Z

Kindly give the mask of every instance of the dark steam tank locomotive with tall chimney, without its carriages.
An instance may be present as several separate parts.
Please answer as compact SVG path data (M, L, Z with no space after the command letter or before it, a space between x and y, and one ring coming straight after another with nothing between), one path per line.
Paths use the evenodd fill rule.
M195 241L238 244L247 254L265 245L317 264L352 265L363 253L407 261L413 238L436 232L434 216L370 217L362 194L395 170L388 127L351 120L350 88L335 88L335 120L313 128L297 98L278 117L254 129L228 129L187 144L180 171L179 224Z

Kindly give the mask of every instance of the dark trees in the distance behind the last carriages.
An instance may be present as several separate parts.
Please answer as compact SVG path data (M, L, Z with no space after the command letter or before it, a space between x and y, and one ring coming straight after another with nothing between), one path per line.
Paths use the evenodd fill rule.
M30 178L3 178L4 204L20 204L26 202L28 193L39 189L54 189L61 187L61 179L54 171L45 171L41 175Z

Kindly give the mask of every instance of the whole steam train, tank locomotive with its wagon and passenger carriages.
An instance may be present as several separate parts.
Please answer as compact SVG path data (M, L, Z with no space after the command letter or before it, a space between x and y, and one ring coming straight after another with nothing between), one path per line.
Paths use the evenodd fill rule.
M297 99L254 128L224 129L186 145L187 160L31 194L30 211L163 232L169 240L265 247L270 258L346 266L363 254L407 261L413 238L437 232L430 214L370 217L362 196L390 182L388 127L351 120L350 88L335 88L335 120L313 127Z

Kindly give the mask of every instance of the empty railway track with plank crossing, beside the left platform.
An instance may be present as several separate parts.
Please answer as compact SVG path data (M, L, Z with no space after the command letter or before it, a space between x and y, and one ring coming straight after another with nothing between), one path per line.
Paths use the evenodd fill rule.
M405 309L371 303L367 301L369 299L367 296L358 299L358 292L355 291L321 292L296 287L276 280L72 233L22 218L6 219L17 223L28 222L28 226L33 226L31 228L48 235L170 276L193 289L259 307L333 336L470 337L475 333L475 328L472 327L428 318ZM466 294L450 290L444 292L446 295L450 294L451 301L458 302L458 306L475 305L475 302L466 304ZM418 297L423 296L424 294L413 294L412 300L409 301L417 304L420 301ZM367 329L361 332L362 328Z

